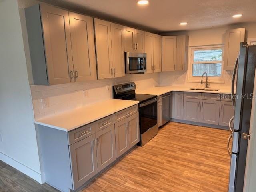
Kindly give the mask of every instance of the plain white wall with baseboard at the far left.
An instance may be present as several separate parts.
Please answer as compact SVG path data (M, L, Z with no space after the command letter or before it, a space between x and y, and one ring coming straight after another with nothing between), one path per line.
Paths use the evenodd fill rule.
M41 180L18 3L0 0L0 159Z

